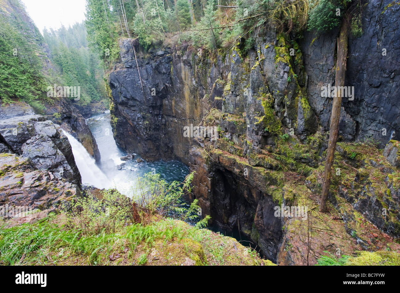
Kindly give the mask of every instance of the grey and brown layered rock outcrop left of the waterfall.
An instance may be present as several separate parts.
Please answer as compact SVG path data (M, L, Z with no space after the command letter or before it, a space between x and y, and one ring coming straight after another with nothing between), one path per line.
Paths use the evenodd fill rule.
M40 218L81 195L79 170L59 125L24 102L1 107L0 117L1 206L38 209L43 212L27 217Z

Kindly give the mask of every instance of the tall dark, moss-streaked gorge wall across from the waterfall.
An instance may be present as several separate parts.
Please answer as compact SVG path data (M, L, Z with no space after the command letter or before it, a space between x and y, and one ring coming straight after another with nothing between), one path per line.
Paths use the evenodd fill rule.
M355 97L342 104L342 140L373 137L385 145L391 135L398 139L399 6L390 3L370 2L363 14L364 34L350 37L346 85L354 86ZM304 259L288 252L290 221L274 217L273 211L276 205L293 204L294 194L302 192L303 198L318 193L315 177L332 107L331 98L321 97L321 87L334 85L336 35L316 38L306 33L297 43L269 31L256 37L247 56L241 56L238 47L226 55L136 48L139 76L133 40L121 39L121 62L109 75L114 137L120 147L146 160L177 158L188 164L196 171L194 196L214 224L239 229L273 261L298 263ZM390 53L382 56L382 47ZM184 137L190 124L218 127L220 139ZM290 135L287 144L279 139L284 133ZM341 154L347 164L348 154ZM285 172L308 176L307 186L304 180L300 186L288 184ZM351 176L361 182L360 174ZM388 188L392 184L386 183ZM341 192L338 196L348 198L347 191ZM393 198L379 199L381 207L389 204L398 210L396 192L394 188ZM334 196L330 199L335 202ZM362 201L350 202L378 228L398 237L398 224L393 223L399 219L385 223L373 208L360 208ZM345 218L352 219L345 224L352 233L354 216Z

